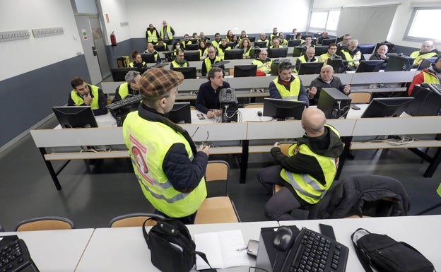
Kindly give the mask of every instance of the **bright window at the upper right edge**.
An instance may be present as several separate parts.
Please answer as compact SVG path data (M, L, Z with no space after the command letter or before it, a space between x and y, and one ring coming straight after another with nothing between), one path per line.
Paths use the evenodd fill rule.
M424 40L440 41L440 17L441 8L414 8L405 38L421 42Z

